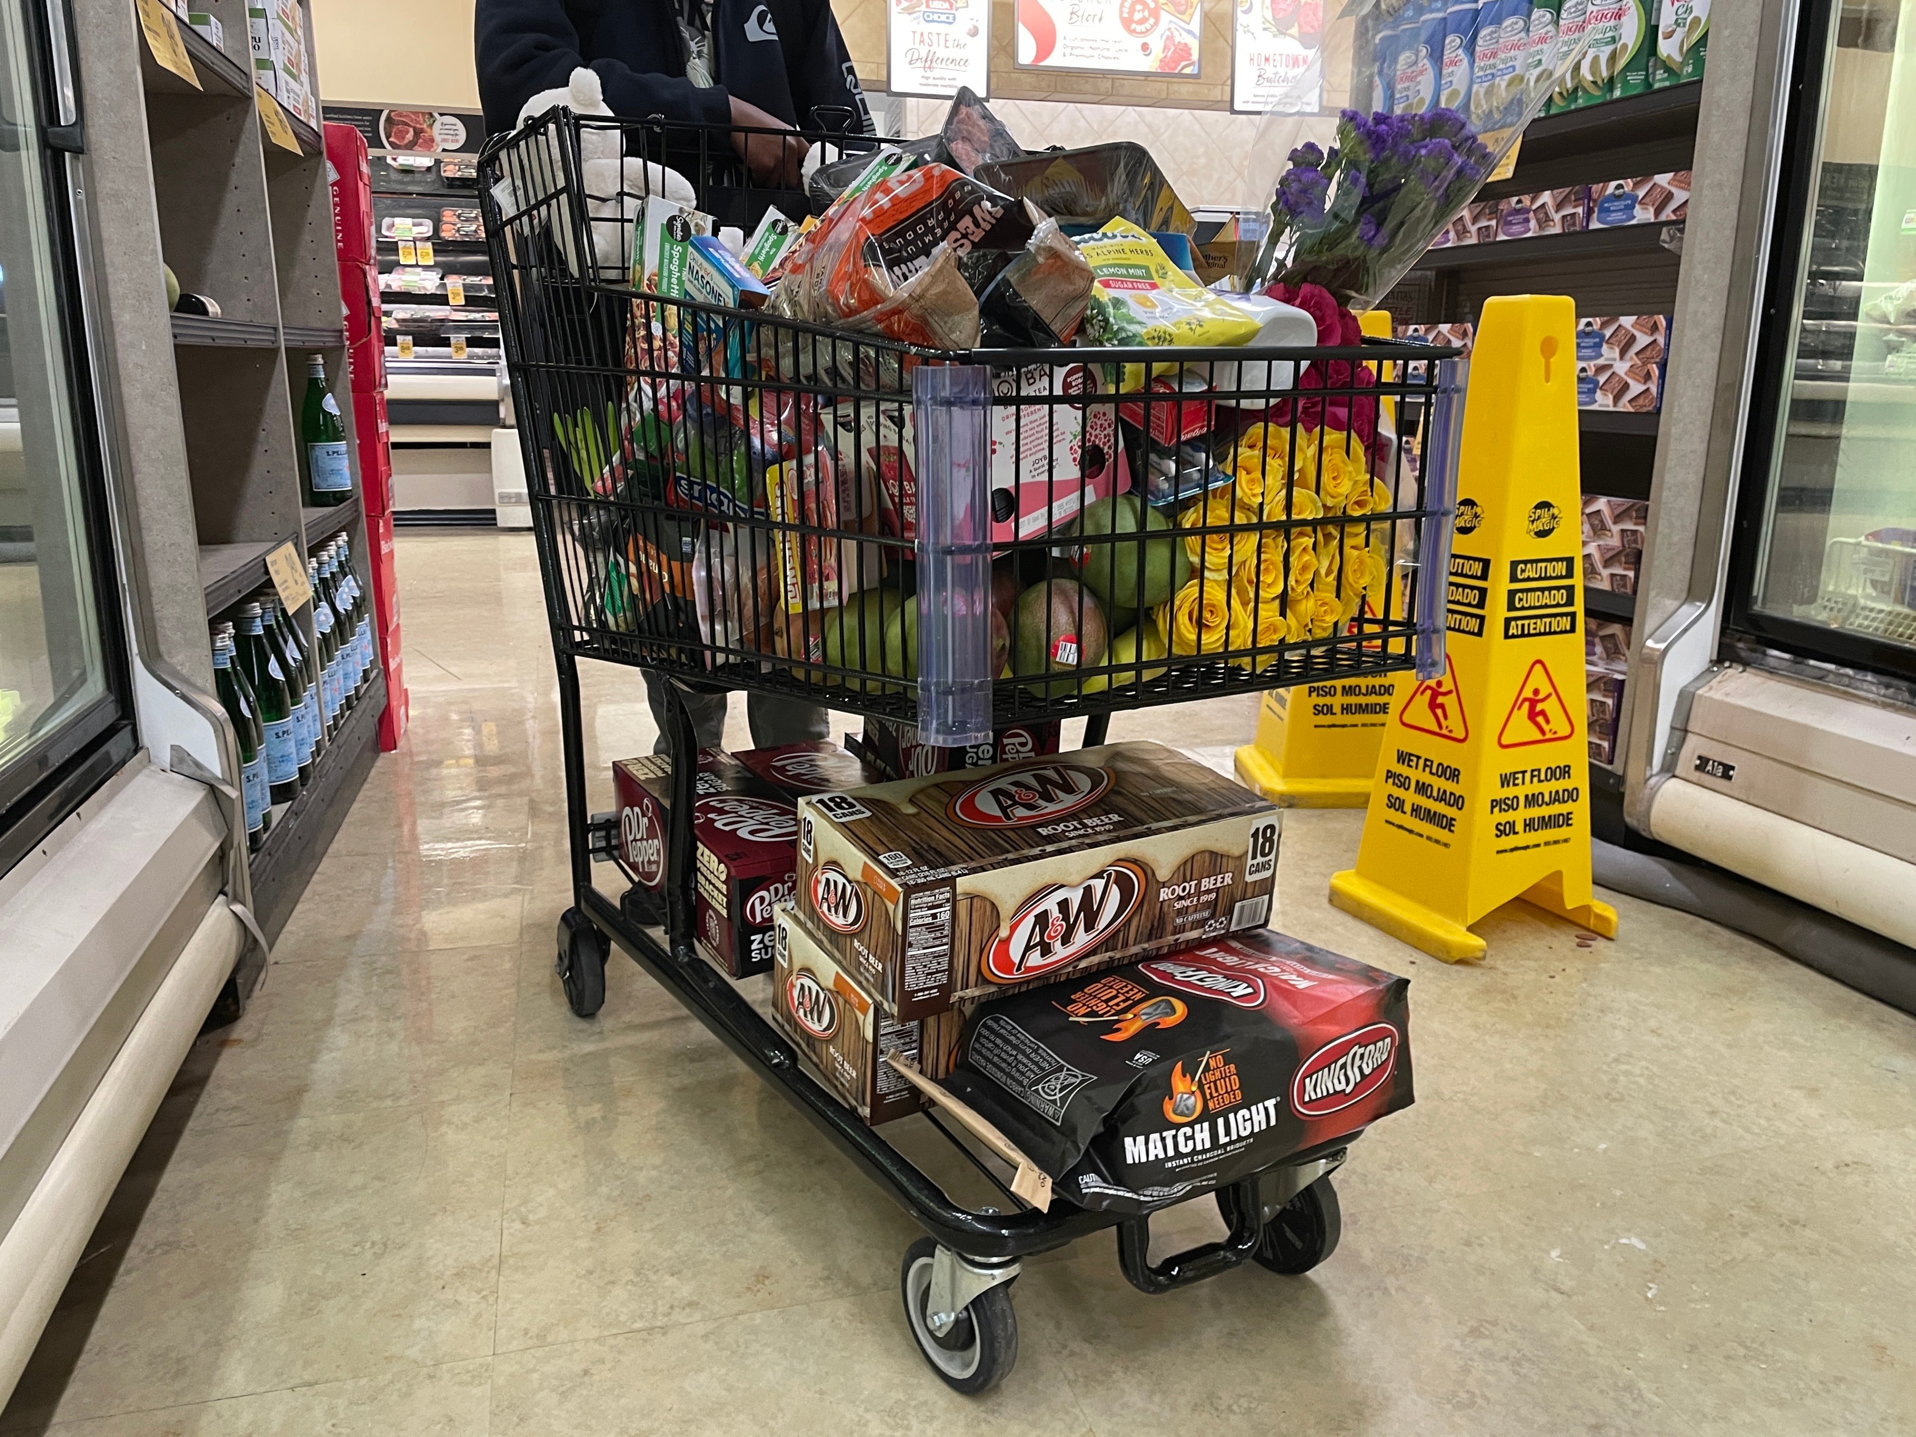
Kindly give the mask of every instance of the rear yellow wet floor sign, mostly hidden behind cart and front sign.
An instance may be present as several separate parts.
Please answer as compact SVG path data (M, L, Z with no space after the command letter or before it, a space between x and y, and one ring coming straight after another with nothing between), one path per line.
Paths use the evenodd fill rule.
M1368 335L1391 337L1389 310L1366 310L1357 322ZM1238 782L1280 809L1362 809L1383 724L1406 682L1383 674L1270 690L1257 711L1257 736L1238 749Z

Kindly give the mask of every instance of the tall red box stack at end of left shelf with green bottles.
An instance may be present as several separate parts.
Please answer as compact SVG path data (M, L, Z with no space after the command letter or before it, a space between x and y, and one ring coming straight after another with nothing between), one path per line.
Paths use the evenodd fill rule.
M385 665L385 717L379 747L397 749L412 713L399 630L399 579L393 571L393 445L385 418L385 335L379 314L379 268L372 243L372 163L366 136L351 125L326 125L326 161L333 192L333 249L339 259L341 322L353 377L353 431L358 441L360 504L366 510L366 558L372 567L372 615Z

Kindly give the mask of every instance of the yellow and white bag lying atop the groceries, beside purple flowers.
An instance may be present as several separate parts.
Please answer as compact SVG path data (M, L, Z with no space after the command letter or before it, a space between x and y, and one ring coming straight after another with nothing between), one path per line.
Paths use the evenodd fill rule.
M1111 220L1077 241L1090 262L1086 331L1096 345L1249 343L1255 314L1198 284L1163 247L1129 220ZM1142 364L1127 364L1123 389L1144 389Z

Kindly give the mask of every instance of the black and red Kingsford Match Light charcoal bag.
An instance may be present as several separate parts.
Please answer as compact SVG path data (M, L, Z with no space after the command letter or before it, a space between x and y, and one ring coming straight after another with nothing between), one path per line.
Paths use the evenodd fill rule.
M947 1086L1060 1198L1146 1213L1408 1107L1408 989L1243 933L981 1006Z

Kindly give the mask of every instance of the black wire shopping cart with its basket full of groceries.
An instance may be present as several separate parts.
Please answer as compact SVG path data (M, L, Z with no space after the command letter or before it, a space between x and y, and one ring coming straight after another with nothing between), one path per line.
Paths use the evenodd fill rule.
M912 220L956 215L929 255L881 253L899 226L833 259L833 217L860 194L843 176L881 142L807 132L816 174L745 163L740 144L778 138L552 111L481 157L559 678L575 906L558 968L590 1015L623 948L885 1188L927 1234L902 1272L912 1334L947 1383L981 1391L1015 1358L1019 1259L1117 1226L1144 1291L1245 1259L1301 1272L1335 1245L1326 1175L1347 1140L1219 1190L1230 1236L1159 1263L1148 1217L1027 1207L933 1109L1004 1203L948 1198L697 956L682 694L809 699L937 745L1083 717L1096 743L1119 709L1441 673L1460 364L1391 343L987 347L971 293L1056 245L1044 215L979 186L985 209ZM843 199L820 194L832 174ZM774 209L824 217L776 287L686 222L759 238ZM592 878L617 818L586 797L581 659L669 680L663 912Z

